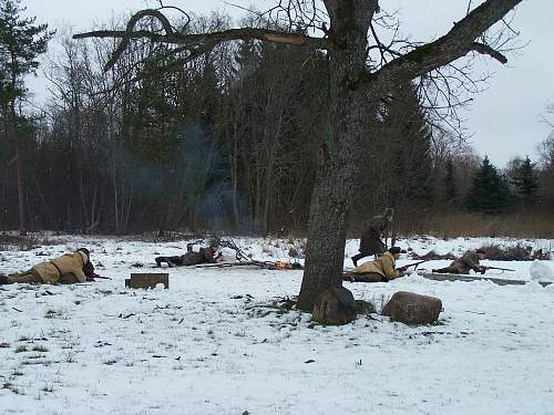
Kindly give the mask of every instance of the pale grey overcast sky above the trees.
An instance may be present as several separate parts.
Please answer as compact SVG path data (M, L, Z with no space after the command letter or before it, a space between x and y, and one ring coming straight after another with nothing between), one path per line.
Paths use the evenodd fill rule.
M264 10L274 0L232 0L232 3L255 4ZM196 13L209 10L226 11L239 17L242 11L220 0L184 1L165 0ZM402 34L413 40L431 40L445 33L460 20L468 0L389 0L381 1L387 10L398 10ZM473 1L479 3L479 1ZM51 28L71 25L75 32L91 29L94 22L110 19L112 14L136 11L148 4L145 0L21 0L28 14ZM150 1L150 4L157 2ZM480 60L480 71L493 73L486 91L474 96L470 111L464 114L465 126L472 144L481 155L503 166L514 156L536 158L536 145L544 141L550 127L541 121L546 105L554 103L554 1L523 1L517 8L513 25L530 44L516 56L509 56L502 65L492 60ZM52 48L55 50L55 48ZM44 96L45 81L39 77L30 85L39 97Z

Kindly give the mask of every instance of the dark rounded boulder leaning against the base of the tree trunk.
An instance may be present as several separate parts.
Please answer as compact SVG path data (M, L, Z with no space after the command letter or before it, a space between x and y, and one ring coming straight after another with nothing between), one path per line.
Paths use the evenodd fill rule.
M328 288L314 304L315 321L328 325L348 324L356 320L356 301L345 287Z

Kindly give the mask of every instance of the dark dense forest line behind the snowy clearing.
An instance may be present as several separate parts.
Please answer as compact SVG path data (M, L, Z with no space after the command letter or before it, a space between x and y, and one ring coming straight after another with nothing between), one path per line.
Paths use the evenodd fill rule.
M160 72L178 56L142 41L104 72L113 41L62 37L62 53L43 68L48 102L32 111L24 76L53 33L22 18L18 2L0 4L1 229L306 231L320 152L314 137L326 127L325 53L234 41ZM214 13L189 30L229 27ZM349 229L384 207L396 208L399 231L425 212L552 209L552 136L538 160L516 158L501 170L432 122L423 93L397 85L360 126L372 139L356 149L363 163Z

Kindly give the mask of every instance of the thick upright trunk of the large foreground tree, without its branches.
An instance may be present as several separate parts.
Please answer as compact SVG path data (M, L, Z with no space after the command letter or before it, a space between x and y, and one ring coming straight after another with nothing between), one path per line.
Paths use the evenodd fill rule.
M332 4L328 4L332 3ZM341 284L346 219L358 170L362 121L372 116L361 105L363 89L350 89L366 71L366 34L372 11L367 1L326 2L340 50L329 51L329 115L318 151L318 174L308 221L308 245L297 307L312 311L316 297Z

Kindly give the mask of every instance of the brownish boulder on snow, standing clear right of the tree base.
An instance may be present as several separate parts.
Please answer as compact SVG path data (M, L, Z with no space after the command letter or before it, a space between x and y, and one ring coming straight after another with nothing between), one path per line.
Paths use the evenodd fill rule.
M381 314L406 324L429 324L439 319L441 310L442 301L438 298L399 291L384 305Z

